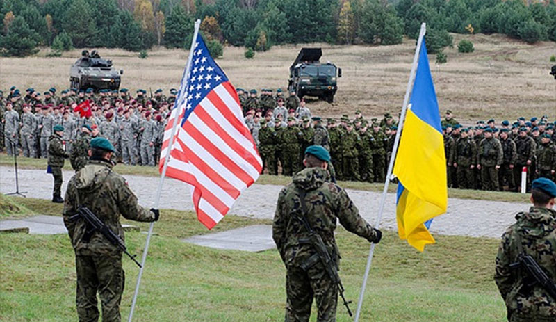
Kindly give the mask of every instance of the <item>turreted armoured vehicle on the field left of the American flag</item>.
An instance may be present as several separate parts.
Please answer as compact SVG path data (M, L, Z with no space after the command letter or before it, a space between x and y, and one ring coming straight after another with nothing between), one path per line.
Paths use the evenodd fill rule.
M89 53L88 50L81 51L79 58L70 68L70 86L77 90L92 88L95 92L102 89L117 90L120 88L120 75L112 67L112 61L100 57L96 50Z

